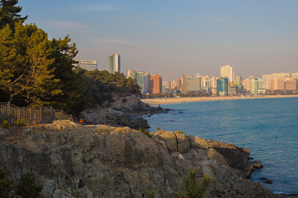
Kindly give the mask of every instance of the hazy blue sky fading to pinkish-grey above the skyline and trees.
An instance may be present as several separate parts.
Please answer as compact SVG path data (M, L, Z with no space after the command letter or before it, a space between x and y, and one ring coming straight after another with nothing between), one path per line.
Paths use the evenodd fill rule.
M164 81L220 76L231 65L242 79L298 72L298 0L95 1L19 0L25 23L49 39L69 35L76 59L97 60L119 53L121 72L142 69Z

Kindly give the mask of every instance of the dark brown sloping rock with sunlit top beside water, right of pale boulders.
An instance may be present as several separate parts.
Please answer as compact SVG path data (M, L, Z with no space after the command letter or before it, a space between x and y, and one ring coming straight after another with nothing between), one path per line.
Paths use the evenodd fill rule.
M226 162L230 167L240 170L246 176L251 174L253 167L251 162L247 160L247 155L245 155L242 148L212 139L208 139L206 142L210 148L215 149L227 159Z

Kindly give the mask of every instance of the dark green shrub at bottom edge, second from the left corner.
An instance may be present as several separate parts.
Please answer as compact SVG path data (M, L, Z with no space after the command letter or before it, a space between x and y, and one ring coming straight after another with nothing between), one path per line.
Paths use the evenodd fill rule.
M34 172L32 172L32 168L30 169L30 172L27 171L26 175L21 175L20 179L20 186L17 193L19 195L22 195L24 198L31 198L38 195L38 193L42 190L42 185L40 186L34 186L33 183L35 182L36 177L34 175Z

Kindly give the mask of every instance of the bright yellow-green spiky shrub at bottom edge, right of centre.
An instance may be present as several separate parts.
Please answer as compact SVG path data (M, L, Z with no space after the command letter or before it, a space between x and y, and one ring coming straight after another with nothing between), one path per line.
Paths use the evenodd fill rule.
M184 177L183 184L185 190L176 191L178 198L205 198L209 184L213 176L204 174L203 181L199 184L197 179L197 168L189 168L189 173Z

